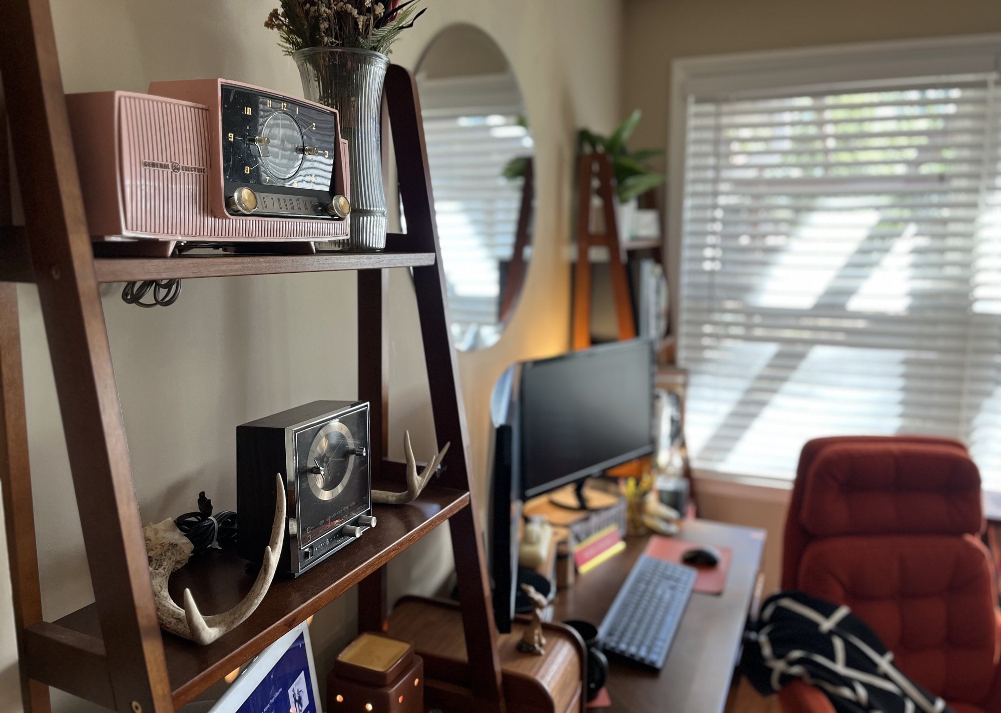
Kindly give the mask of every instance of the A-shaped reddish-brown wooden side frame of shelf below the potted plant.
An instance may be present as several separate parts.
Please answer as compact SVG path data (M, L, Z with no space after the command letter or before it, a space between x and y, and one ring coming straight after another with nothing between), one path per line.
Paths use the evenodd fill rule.
M630 294L629 275L623 259L619 227L616 223L613 191L615 173L612 159L602 152L586 153L581 156L577 168L577 263L574 266L574 320L572 339L575 349L591 346L591 256L590 248L601 245L609 250L609 269L612 275L612 296L616 303L616 318L619 323L619 339L636 337L636 322L633 319L633 297ZM591 196L598 193L602 198L602 214L605 231L592 231Z

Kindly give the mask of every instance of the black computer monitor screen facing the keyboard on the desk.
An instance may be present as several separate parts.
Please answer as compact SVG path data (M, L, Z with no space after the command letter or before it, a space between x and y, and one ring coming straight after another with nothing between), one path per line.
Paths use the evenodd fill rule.
M523 365L518 431L525 497L651 453L654 369L646 339Z

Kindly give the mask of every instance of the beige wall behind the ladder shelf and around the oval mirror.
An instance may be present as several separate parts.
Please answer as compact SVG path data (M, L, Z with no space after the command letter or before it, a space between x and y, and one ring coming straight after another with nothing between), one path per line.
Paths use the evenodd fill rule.
M274 0L52 0L67 91L131 89L149 81L223 76L299 93L291 59L263 28ZM569 270L560 249L570 233L574 129L608 129L619 106L621 0L432 0L392 59L412 67L446 25L489 33L522 82L538 150L535 258L512 323L484 351L459 355L474 478L484 473L488 398L512 362L565 349ZM194 507L205 490L232 507L234 427L318 398L355 397L354 275L330 273L189 280L167 309L139 309L104 294L136 496L144 522ZM92 599L66 466L37 294L19 289L35 517L45 615ZM391 444L402 429L427 456L434 448L412 289L392 274ZM315 328L317 309L335 328ZM478 499L482 500L479 496ZM0 535L0 540L3 537ZM439 529L390 566L392 595L430 593L450 570L448 535ZM8 572L6 547L0 568ZM353 593L313 624L317 667L354 630ZM0 576L0 713L19 711L10 588ZM321 676L321 678L323 678ZM58 710L88 709L56 696Z

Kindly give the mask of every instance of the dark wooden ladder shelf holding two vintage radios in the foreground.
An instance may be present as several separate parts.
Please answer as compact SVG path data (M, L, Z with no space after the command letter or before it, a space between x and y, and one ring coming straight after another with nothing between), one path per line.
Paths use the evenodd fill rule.
M9 120L26 216L12 226L7 142L0 141L0 483L26 711L50 710L49 686L122 713L173 711L358 585L358 626L386 620L385 565L448 522L470 688L476 710L504 710L496 629L469 484L468 439L448 329L416 87L390 66L389 119L409 231L385 252L282 256L95 259L73 155L49 0L12 0L0 41L0 125ZM16 112L5 117L3 93ZM411 267L434 429L451 442L441 477L414 503L376 506L378 528L296 580L275 580L243 624L197 646L157 624L142 523L132 486L100 282L358 270L358 398L370 403L375 483L401 487L402 465L384 458L388 348L386 268ZM38 286L66 434L94 604L55 622L42 617L14 282ZM235 427L235 425L234 425ZM379 438L381 435L381 438ZM219 609L250 584L232 555L192 563L175 579ZM186 580L186 581L185 581Z

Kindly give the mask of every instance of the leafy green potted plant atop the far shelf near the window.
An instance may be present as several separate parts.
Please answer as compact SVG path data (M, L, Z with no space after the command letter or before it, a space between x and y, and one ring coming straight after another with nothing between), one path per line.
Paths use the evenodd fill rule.
M636 131L643 116L637 109L612 132L610 136L602 136L589 129L581 129L577 135L578 155L588 152L607 153L612 158L612 167L616 174L616 222L619 226L620 239L627 241L632 237L649 237L635 235L634 226L639 226L638 198L648 191L657 188L667 176L652 170L647 164L652 158L664 155L664 149L648 148L631 151L627 142ZM653 216L657 226L658 218ZM655 228L659 230L659 227Z

